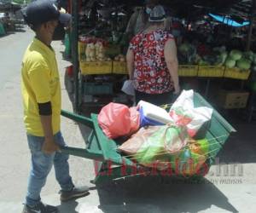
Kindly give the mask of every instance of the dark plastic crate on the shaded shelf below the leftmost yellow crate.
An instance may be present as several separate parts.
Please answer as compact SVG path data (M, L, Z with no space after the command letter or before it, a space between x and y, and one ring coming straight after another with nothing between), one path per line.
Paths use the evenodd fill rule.
M113 94L113 83L88 83L83 85L84 95L111 95Z

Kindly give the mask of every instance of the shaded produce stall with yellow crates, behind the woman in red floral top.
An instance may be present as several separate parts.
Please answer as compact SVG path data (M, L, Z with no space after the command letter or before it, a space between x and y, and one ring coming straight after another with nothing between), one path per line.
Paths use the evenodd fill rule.
M121 85L127 78L124 55L128 43L123 39L123 33L132 13L131 8L141 6L142 3L80 1L70 4L73 12L72 55L77 112L82 103L87 107L102 107L110 101L127 101L127 97L120 92ZM256 62L253 51L245 49L245 37L248 37L249 28L247 25L252 26L252 3L161 3L166 9L170 9L172 17L174 16L183 28L182 42L177 44L179 77L202 81L205 85L202 90L206 97L214 81L221 82L219 89L222 89L220 85L234 79L234 84L240 84L239 90L243 89ZM186 12L189 7L194 8L190 14ZM241 46L237 45L237 37L241 37ZM248 96L247 92L242 92L243 97ZM241 97L241 93L236 94L236 98ZM224 99L227 99L228 95ZM246 97L241 98L239 103L236 98L230 108L247 106ZM224 103L220 105L224 107Z

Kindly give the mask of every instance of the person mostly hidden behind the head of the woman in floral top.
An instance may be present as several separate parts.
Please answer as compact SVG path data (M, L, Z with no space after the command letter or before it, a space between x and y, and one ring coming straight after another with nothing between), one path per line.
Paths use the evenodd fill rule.
M135 9L126 27L125 35L130 42L131 38L148 26L148 17L151 10L159 3L159 0L145 0L143 8Z

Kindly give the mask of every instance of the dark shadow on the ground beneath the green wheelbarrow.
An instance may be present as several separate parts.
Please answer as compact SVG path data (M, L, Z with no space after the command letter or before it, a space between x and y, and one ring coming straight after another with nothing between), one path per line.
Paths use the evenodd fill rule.
M210 183L178 184L175 179L159 177L130 177L111 187L96 187L99 208L105 213L154 212L196 213L216 206L221 210L238 212L217 187ZM218 212L218 211L216 211Z

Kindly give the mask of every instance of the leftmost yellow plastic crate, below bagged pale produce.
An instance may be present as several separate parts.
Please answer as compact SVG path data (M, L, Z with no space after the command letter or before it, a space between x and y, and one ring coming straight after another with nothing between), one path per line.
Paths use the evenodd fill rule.
M82 75L110 74L112 73L112 61L80 61L80 71Z

